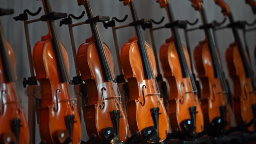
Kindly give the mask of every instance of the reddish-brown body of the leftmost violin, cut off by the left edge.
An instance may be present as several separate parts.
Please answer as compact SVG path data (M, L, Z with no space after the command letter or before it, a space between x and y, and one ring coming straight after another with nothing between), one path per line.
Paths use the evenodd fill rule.
M14 72L16 72L16 64L14 53L11 45L6 41L8 54L13 66ZM19 105L17 100L15 83L5 81L4 65L0 56L0 143L7 143L7 137L11 137L11 141L17 142L15 138L15 132L13 130L14 119L20 119L20 133L19 143L29 143L29 127L23 108Z

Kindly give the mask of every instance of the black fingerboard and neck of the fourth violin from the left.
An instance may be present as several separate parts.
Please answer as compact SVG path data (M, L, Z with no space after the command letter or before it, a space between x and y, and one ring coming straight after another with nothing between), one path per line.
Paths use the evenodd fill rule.
M130 9L131 9L131 12L132 12L133 20L138 21L139 18L138 18L136 10L134 8L133 1L130 1ZM136 34L137 34L137 37L138 37L139 53L141 55L141 60L142 60L142 64L143 64L143 70L144 70L144 73L145 73L145 78L146 79L153 79L153 78L155 78L155 76L154 76L150 61L149 61L149 56L148 56L144 36L142 34L141 25L135 25L135 30L136 30Z

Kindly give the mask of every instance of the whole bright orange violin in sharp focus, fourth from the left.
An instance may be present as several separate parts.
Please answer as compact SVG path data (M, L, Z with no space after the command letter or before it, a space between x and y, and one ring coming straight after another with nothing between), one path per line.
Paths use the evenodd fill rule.
M124 77L130 89L127 101L127 117L131 131L139 131L145 136L146 131L155 127L157 134L147 142L163 141L169 130L168 115L156 81L156 61L150 45L145 42L140 20L133 0L122 0L131 10L136 36L125 43L121 50L121 65Z

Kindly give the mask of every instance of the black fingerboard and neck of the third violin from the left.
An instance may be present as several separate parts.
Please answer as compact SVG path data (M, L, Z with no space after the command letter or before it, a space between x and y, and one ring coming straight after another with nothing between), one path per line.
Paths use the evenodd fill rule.
M93 10L92 10L92 6L91 6L91 2L90 1L85 1L85 9L86 9L86 13L88 18L93 18L94 14L93 14ZM97 26L96 22L92 22L90 23L91 29L92 29L92 33L94 35L95 38L95 44L96 44L96 48L97 48L97 52L99 54L99 58L100 58L100 63L102 65L102 68L104 70L104 76L105 76L105 80L106 81L115 81L115 76L113 75L114 72L112 72L112 69L109 66L109 62L106 56L106 52L105 52L105 48L104 48L104 44Z

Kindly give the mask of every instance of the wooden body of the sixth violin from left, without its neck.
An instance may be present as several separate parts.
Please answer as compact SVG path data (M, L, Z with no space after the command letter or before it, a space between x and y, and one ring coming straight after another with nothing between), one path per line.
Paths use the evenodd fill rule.
M208 127L214 118L220 117L220 107L226 105L226 121L228 122L226 128L229 129L229 106L223 88L221 87L221 79L215 77L213 61L207 41L200 42L195 48L194 59L202 87L201 107L203 110L204 125Z

